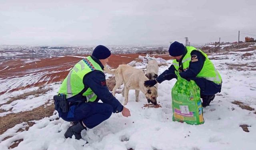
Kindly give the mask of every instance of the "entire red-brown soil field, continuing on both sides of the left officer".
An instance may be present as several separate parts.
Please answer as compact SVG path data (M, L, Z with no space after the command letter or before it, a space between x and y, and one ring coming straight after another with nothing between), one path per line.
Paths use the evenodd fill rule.
M117 68L120 64L128 64L132 60L138 58L138 56L146 56L143 54L112 54L110 56L108 64L112 68ZM81 56L81 55L80 55ZM84 57L88 55L82 55ZM154 55L155 58L161 57L165 60L172 59L167 54ZM42 86L44 84L50 84L54 82L63 81L68 75L70 68L72 68L82 58L73 56L55 57L55 58L40 58L40 60L28 62L28 60L8 60L0 64L0 78L12 79L17 77L23 77L28 74L42 74L36 81L32 81L32 84L26 86L19 86L14 89L6 89L10 92L29 88L31 86ZM8 68L6 68L8 66ZM3 81L5 82L5 81ZM1 82L0 82L1 84ZM0 94L6 91L0 91Z

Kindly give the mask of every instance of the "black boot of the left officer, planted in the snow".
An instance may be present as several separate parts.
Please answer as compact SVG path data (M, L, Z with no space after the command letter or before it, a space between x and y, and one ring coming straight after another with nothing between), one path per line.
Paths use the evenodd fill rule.
M78 122L77 124L70 126L64 136L65 138L72 138L72 136L75 135L75 138L79 140L82 138L81 131L84 129L87 130L87 128L84 127L81 122Z

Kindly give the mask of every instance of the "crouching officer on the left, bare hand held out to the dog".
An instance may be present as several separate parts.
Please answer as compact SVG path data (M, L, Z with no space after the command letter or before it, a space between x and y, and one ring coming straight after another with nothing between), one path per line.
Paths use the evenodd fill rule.
M111 52L105 46L97 46L92 56L78 62L54 96L55 109L68 122L75 122L66 131L65 138L80 139L81 131L94 128L108 119L112 112L122 112L125 117L130 111L109 92L103 72ZM101 100L103 103L98 102Z

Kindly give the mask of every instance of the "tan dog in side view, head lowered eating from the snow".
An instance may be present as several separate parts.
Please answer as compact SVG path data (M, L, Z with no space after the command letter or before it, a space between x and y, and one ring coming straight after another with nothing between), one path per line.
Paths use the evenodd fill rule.
M112 90L113 96L116 94L116 89L119 88L122 84L124 84L124 103L126 105L128 102L128 93L129 90L135 90L136 102L139 101L139 93L143 92L148 100L148 103L152 103L154 105L157 104L157 89L155 87L145 87L144 81L148 80L148 78L144 75L142 70L133 68L132 66L121 64L118 68L114 70L110 70L106 66L104 66L104 70L108 74L114 74L116 79L116 86L114 86Z

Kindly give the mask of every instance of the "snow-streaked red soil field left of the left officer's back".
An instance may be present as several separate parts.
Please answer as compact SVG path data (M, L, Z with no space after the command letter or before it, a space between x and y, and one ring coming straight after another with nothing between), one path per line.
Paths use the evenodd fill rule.
M44 58L40 59L39 61L27 63L27 60L8 60L0 64L0 70L8 66L8 68L0 71L0 78L12 79L23 77L28 74L41 74L40 78L32 81L32 84L19 86L13 89L6 88L6 91L9 90L10 92L29 88L31 86L42 86L46 83L50 84L64 80L64 78L66 78L68 75L69 69L72 68L81 59L82 58L78 57L64 56L57 58ZM5 93L6 91L1 91L0 94Z

